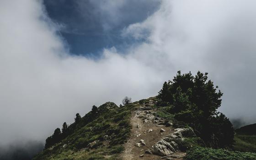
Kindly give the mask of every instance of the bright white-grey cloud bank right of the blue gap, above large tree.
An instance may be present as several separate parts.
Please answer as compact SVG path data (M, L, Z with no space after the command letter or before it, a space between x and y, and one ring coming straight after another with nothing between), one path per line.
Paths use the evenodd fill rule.
M255 123L254 5L238 0L163 0L158 11L126 27L123 35L145 38L147 43L134 49L135 56L169 75L178 69L209 72L224 92L220 111Z

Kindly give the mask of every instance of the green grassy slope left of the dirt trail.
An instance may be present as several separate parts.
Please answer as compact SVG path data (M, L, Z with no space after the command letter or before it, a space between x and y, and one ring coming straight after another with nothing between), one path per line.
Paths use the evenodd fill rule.
M117 107L107 102L96 114L87 113L82 120L71 124L70 133L59 143L44 149L33 160L102 160L118 159L122 144L130 135L130 115L135 104Z

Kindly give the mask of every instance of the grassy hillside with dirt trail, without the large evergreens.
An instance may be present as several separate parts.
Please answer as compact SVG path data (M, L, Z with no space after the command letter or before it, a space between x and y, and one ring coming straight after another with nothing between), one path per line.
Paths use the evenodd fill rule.
M157 107L155 97L123 107L107 102L98 108L99 111L94 120L89 123L81 121L78 124L71 124L76 126L74 133L48 149L44 149L33 160L157 160L164 157L163 153L166 152L173 152L166 157L170 160L197 160L194 159L195 154L201 158L206 157L205 160L211 160L204 152L211 152L213 157L214 152L217 155L219 152L222 153L222 157L225 155L234 157L237 154L227 150L200 148L205 144L193 132L177 133L177 128L189 127L176 121L173 118L174 115L166 112L166 107ZM87 113L82 120L89 117L88 115L92 115L92 112ZM164 132L161 132L162 129ZM170 139L173 133L182 136L182 141L180 138L169 140L170 142L175 140L178 145L174 151L168 148L170 144L168 138ZM145 145L139 143L141 139L144 140ZM167 144L163 144L163 140ZM136 146L138 143L140 147ZM160 146L162 150L153 151L152 146L155 144L162 144ZM254 159L256 155L253 156L250 160L256 160Z

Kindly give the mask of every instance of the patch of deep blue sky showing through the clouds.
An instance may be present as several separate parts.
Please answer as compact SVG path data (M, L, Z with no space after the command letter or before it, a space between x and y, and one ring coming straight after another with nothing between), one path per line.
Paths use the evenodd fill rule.
M154 13L159 0L44 0L49 17L71 53L99 57L103 48L123 48L132 42L120 36L123 27Z

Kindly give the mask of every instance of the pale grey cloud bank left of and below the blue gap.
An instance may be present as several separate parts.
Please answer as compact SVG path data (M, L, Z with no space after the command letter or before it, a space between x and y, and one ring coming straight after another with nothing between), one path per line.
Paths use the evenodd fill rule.
M0 15L2 145L44 141L64 121L72 123L76 112L118 104L124 96L154 96L160 87L154 70L115 48L97 61L69 54L39 1L2 1Z

